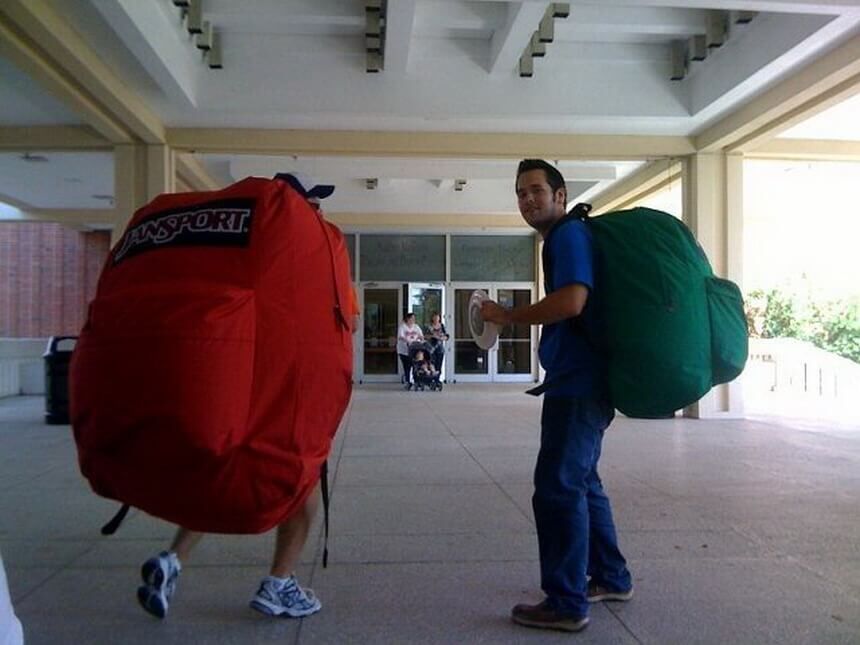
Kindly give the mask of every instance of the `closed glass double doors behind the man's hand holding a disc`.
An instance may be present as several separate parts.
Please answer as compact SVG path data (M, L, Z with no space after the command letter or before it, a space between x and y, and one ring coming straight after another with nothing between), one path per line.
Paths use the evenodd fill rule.
M483 289L490 298L505 307L531 304L533 288L516 284L458 283L453 289L453 374L455 381L530 382L535 375L536 328L531 325L507 325L489 350L483 350L469 332L469 299L475 289Z

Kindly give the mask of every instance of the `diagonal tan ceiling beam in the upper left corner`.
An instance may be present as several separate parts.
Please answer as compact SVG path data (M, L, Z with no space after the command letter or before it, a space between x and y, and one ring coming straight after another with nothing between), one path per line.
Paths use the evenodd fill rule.
M5 17L7 31L15 30L19 39L26 37L30 43L38 43L38 49L31 45L29 54L34 63L48 67L53 76L73 88L77 86L77 94L95 104L86 110L88 123L102 114L96 120L118 124L120 132L113 133L103 132L101 123L93 124L99 126L96 129L101 134L114 143L127 143L129 133L144 143L164 143L161 121L45 0L3 0L0 15ZM45 72L37 78L43 80L44 76ZM56 90L56 85L56 81L50 82L48 89ZM68 100L69 91L62 92L60 98ZM80 102L73 100L72 107L80 110Z

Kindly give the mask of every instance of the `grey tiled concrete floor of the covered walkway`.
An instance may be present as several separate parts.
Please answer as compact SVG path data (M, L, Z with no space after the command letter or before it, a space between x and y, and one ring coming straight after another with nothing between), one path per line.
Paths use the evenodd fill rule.
M167 620L134 598L171 529L98 528L68 427L39 398L0 400L0 550L27 643L860 643L860 428L618 419L602 475L635 598L577 635L512 624L540 599L531 471L540 401L518 386L357 388L332 455L327 569L299 571L323 611L247 601L273 540L212 536Z

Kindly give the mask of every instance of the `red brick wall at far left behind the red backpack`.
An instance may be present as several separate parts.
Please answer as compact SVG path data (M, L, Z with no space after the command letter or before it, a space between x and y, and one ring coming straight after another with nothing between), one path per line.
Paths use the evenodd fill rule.
M0 337L77 335L110 249L110 233L0 223Z

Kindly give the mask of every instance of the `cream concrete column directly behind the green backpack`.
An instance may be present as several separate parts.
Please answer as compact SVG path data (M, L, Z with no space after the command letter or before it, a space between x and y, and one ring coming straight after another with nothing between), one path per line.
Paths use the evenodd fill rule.
M683 163L683 218L705 250L714 273L741 284L743 277L743 157L695 154ZM743 417L738 380L713 388L684 416Z

